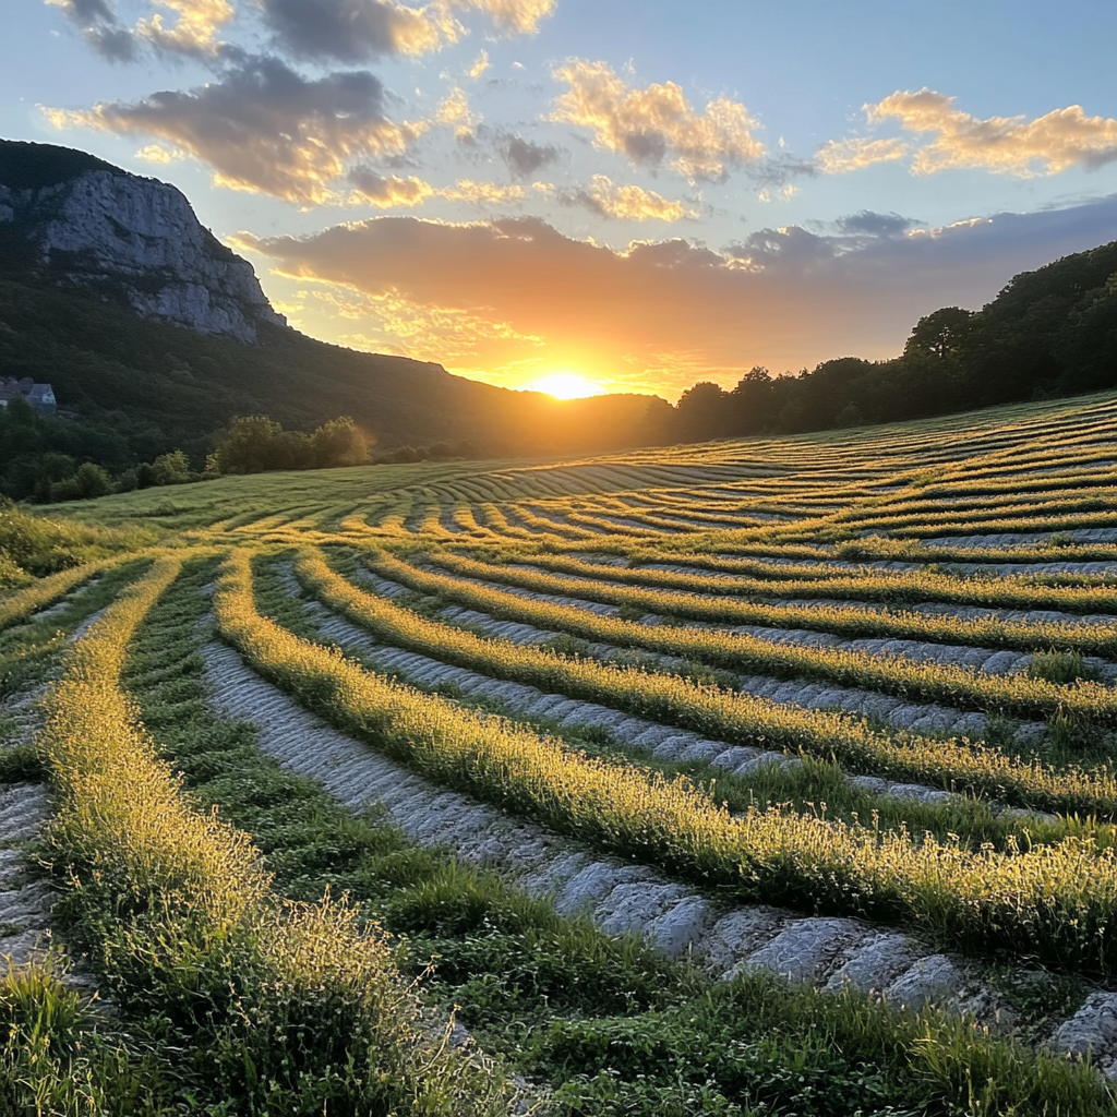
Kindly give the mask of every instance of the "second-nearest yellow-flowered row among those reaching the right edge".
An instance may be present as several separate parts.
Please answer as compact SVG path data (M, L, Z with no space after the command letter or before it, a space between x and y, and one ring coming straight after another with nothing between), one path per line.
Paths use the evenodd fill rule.
M891 737L840 714L780 706L739 691L698 686L677 675L483 639L366 593L334 573L318 553L302 553L295 569L324 603L379 639L496 678L600 703L729 744L834 757L852 771L920 780L1022 806L1117 814L1117 777L1106 768L1056 771L966 741Z

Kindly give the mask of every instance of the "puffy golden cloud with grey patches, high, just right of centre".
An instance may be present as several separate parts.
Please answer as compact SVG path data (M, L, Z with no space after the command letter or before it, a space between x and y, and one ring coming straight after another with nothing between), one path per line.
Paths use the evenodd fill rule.
M556 67L552 76L570 88L555 98L550 118L591 128L596 146L633 163L667 162L691 181L717 180L728 168L764 155L764 145L752 134L756 122L727 97L710 101L699 114L674 82L634 89L607 63L580 58Z

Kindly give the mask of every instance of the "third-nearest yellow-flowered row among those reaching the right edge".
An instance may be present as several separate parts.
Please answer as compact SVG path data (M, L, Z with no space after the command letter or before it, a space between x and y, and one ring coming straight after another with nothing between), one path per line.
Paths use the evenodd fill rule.
M842 648L775 643L743 633L647 626L598 617L573 605L532 601L488 586L472 585L464 579L430 574L381 553L370 553L367 561L371 569L384 577L422 593L442 594L507 620L526 621L586 640L643 648L731 670L779 678L827 679L840 686L863 687L964 709L984 709L1021 717L1063 714L1097 724L1117 723L1117 690L1098 682L1061 685L1027 675L986 675L973 668L919 662L903 657L877 657ZM456 556L439 555L438 561L475 577L484 577L489 571L481 563Z

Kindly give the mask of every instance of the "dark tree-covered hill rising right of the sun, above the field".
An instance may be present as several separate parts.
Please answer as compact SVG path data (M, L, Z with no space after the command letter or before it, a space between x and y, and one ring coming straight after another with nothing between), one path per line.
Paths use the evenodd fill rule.
M1117 386L1117 241L1014 276L981 311L919 319L901 356L753 369L732 391L696 384L656 441L701 441L916 419Z

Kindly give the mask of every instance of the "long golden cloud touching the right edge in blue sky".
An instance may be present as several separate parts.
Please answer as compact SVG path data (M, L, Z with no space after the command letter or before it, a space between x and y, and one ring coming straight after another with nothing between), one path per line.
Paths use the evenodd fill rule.
M1058 174L1071 166L1094 170L1117 160L1117 120L1087 116L1080 105L1057 108L1031 121L1023 116L981 120L955 108L954 101L924 88L897 92L866 105L870 125L897 121L908 133L934 139L929 143L831 140L819 151L819 165L836 173L910 155L913 174L967 168L1027 179Z

